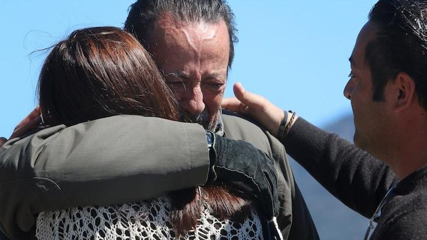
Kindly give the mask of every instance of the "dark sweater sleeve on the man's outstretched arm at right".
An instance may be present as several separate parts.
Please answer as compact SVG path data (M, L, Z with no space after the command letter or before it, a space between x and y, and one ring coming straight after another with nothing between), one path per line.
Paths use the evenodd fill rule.
M385 163L302 118L280 141L323 187L367 218L397 179Z

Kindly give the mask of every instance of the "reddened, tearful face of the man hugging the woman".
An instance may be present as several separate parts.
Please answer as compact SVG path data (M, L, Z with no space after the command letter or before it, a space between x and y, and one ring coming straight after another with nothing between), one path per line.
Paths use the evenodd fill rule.
M224 21L187 23L167 12L149 38L149 51L181 107L212 130L227 81L229 39Z

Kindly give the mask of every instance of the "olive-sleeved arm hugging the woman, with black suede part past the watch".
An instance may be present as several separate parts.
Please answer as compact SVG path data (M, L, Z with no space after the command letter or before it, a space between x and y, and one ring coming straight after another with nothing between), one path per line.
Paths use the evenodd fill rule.
M122 115L12 139L0 148L0 230L31 239L41 211L137 202L204 185L208 176L253 192L271 219L279 203L268 156L210 134L208 150L198 124Z

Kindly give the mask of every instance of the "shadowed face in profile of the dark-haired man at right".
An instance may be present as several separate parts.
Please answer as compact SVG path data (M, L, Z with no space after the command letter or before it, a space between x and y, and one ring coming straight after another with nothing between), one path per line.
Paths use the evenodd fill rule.
M367 44L375 38L378 28L368 22L363 26L350 57L350 80L344 96L351 101L356 132L354 143L371 154L384 149L389 129L385 101L373 100L373 82L369 65L365 62Z

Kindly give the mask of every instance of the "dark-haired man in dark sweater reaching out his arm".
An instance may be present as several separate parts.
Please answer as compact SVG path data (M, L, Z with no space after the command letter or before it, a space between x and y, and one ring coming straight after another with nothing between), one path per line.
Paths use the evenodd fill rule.
M361 149L240 84L234 90L242 102L224 104L257 119L329 192L371 217L365 239L427 239L426 53L427 1L379 0L357 38L344 89Z

